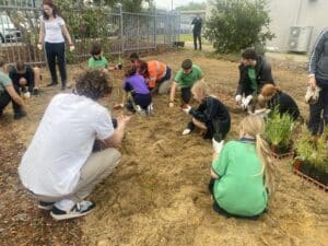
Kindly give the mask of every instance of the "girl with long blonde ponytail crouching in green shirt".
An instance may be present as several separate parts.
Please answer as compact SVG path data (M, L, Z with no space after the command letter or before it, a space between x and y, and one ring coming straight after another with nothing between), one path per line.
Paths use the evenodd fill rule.
M216 212L256 219L266 210L273 165L263 132L263 119L247 116L241 122L239 140L227 142L214 156L209 189Z

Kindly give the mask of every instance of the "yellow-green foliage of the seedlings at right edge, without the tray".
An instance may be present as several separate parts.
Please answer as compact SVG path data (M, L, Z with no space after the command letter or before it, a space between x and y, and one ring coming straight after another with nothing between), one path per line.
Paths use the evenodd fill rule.
M296 159L328 172L328 127L320 137L316 137L308 131L306 126L303 126L297 134L295 148Z

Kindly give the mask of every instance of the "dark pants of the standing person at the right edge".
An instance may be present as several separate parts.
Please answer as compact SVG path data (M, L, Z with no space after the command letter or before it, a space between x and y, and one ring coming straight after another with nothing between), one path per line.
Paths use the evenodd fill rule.
M317 85L321 87L319 98L316 104L309 105L308 130L313 134L323 133L324 126L328 124L328 80L316 79ZM323 122L321 114L324 112Z

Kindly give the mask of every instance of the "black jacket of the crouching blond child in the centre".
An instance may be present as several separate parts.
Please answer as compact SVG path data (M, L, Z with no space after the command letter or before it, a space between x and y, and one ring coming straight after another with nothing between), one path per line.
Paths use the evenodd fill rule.
M207 96L198 109L191 108L189 114L197 120L204 122L208 131L206 138L221 141L231 127L230 114L226 106L213 96Z

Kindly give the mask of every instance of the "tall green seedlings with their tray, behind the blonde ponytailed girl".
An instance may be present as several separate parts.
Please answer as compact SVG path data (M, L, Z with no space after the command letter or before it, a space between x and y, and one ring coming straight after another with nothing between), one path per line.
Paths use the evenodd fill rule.
M284 157L293 154L293 131L295 122L288 114L278 109L270 113L266 120L266 139L269 142L273 157Z

